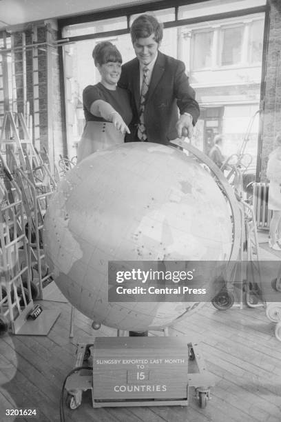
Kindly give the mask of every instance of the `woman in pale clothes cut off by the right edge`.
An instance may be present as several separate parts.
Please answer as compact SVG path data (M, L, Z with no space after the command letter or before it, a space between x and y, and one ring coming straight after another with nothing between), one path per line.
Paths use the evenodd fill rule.
M269 210L273 211L270 222L269 246L273 250L281 250L281 134L275 137L277 148L269 155L267 177L269 183Z

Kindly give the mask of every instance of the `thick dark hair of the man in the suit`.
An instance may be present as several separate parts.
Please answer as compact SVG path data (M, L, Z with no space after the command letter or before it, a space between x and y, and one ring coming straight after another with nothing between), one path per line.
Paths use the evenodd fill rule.
M137 17L131 26L131 38L134 44L138 38L148 38L154 34L156 43L160 43L163 39L163 23L151 14L141 14Z

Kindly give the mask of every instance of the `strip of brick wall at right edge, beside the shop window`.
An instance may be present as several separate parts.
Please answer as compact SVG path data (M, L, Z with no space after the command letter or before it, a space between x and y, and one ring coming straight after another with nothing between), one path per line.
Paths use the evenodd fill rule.
M269 46L265 72L264 119L262 128L261 181L274 138L281 132L281 1L270 0Z

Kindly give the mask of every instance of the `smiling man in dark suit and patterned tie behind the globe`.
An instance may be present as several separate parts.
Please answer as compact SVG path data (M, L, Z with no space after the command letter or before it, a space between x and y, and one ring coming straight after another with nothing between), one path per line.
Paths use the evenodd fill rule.
M178 137L191 138L199 106L184 63L158 50L163 25L142 14L132 23L131 37L136 58L122 66L118 82L131 94L133 120L126 141L166 145Z

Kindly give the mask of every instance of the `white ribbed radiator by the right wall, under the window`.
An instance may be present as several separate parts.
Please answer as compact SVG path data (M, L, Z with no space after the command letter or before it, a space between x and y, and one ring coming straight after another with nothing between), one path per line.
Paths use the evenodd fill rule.
M253 183L253 212L257 228L268 229L272 211L268 208L269 183Z

